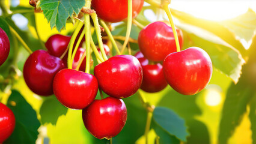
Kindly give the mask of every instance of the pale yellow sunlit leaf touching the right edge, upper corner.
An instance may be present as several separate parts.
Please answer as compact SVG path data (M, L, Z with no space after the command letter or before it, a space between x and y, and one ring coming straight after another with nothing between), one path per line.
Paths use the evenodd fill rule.
M225 20L222 23L240 38L245 38L246 41L249 41L256 31L256 13L249 8L247 13L234 19Z

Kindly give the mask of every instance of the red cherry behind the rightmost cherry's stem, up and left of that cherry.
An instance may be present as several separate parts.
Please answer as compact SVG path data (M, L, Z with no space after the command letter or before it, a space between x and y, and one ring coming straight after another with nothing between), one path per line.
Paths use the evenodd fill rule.
M183 36L180 29L177 29L177 34L181 47ZM153 22L142 29L138 44L145 58L151 61L163 61L169 53L177 52L172 28L164 22Z

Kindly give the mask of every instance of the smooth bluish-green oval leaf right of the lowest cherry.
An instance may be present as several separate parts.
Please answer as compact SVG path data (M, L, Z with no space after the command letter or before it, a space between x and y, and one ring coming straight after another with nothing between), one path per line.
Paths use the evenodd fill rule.
M166 132L186 142L189 133L185 121L172 110L165 107L156 107L153 112L153 120Z

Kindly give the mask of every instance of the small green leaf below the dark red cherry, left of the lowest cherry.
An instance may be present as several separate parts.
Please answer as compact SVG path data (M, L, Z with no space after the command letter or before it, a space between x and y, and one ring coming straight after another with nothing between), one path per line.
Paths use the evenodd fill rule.
M44 100L40 108L41 122L43 124L51 123L55 125L59 116L66 115L67 107L62 106L55 95L51 95Z

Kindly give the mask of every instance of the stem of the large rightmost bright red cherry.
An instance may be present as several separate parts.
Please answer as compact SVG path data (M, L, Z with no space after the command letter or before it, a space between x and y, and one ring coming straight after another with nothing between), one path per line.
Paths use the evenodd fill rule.
M177 47L177 52L180 52L180 43L178 43L178 34L177 34L176 29L175 29L174 22L172 20L172 14L171 14L171 11L169 10L169 4L167 2L165 4L163 4L163 10L165 10L165 13L167 14L167 16L169 18L169 21L171 23L171 28L172 28L172 32L174 34L175 43L176 43L176 47Z

